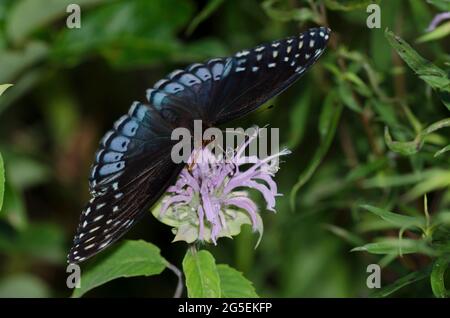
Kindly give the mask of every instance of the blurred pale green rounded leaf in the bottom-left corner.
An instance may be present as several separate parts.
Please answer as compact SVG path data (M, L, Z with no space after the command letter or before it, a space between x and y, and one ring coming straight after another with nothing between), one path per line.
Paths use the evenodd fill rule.
M0 298L47 298L49 287L30 274L15 274L0 281Z

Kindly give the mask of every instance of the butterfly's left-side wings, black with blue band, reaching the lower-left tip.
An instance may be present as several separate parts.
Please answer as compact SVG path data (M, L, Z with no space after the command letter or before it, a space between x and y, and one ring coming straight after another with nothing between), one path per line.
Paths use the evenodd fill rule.
M135 103L100 142L70 263L105 249L155 203L183 165L171 160L172 127L149 105Z

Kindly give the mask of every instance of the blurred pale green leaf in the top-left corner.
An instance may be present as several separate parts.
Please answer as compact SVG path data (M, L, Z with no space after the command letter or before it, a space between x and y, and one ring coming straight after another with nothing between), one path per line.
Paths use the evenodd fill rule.
M48 25L52 21L67 16L66 8L76 3L83 10L105 2L105 0L46 0L45 5L36 0L15 1L6 23L6 33L15 43L23 41L28 35Z

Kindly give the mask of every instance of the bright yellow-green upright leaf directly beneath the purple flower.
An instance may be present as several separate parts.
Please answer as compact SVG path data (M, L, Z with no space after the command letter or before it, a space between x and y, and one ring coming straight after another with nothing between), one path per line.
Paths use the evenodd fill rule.
M220 276L211 253L189 249L183 271L189 298L220 298Z

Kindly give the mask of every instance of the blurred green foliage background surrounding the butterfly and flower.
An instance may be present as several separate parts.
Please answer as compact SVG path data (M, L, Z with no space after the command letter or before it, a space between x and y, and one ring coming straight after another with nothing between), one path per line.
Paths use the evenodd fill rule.
M280 127L293 150L277 175L277 213L261 211L256 250L249 228L205 248L260 296L448 296L449 22L425 33L448 1L375 1L380 29L367 28L373 1L364 0L79 0L82 28L68 29L72 2L0 2L0 84L14 84L0 97L0 297L71 295L65 255L98 140L148 87L174 68L318 24L333 30L319 63L275 107L233 123ZM126 237L152 242L164 259L124 243L162 267L117 277L192 262L150 213ZM110 266L105 255L99 262ZM371 263L382 266L375 293ZM221 278L235 272L217 268ZM165 270L87 296L171 297L176 283ZM220 288L230 295L233 286Z

